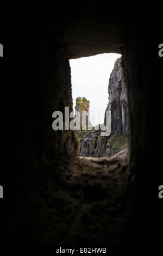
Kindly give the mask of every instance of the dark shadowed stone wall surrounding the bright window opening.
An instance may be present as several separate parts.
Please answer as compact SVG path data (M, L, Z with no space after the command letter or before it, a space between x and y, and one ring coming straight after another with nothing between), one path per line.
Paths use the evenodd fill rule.
M160 244L158 10L150 4L148 10L124 4L65 8L65 15L56 9L59 18L21 17L23 28L15 18L4 33L0 241ZM53 131L52 113L72 109L68 59L103 52L123 54L130 151L96 162L78 159L76 133Z

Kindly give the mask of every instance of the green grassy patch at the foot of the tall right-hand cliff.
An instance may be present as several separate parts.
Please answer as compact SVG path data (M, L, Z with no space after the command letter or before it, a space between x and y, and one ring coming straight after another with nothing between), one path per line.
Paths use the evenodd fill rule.
M127 148L128 146L127 137L118 136L117 133L109 138L108 143L111 144L111 149L115 149L116 153L120 152L124 148Z

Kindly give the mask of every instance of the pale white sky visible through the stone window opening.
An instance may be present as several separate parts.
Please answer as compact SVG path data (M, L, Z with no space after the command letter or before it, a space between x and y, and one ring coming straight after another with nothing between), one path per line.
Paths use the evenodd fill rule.
M95 117L95 125L103 123L104 111L108 105L108 83L114 63L121 54L103 53L79 59L70 59L73 109L77 97L90 101L90 114L100 111L100 120ZM91 118L91 115L90 115Z

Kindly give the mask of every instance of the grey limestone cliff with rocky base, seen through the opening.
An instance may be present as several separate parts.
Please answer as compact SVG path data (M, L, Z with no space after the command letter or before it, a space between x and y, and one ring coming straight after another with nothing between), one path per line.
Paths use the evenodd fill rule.
M113 156L128 145L127 88L124 84L121 62L122 57L116 60L108 85L109 103L106 111L111 111L111 135L101 137L100 131L80 131L79 156ZM106 125L106 118L104 124Z

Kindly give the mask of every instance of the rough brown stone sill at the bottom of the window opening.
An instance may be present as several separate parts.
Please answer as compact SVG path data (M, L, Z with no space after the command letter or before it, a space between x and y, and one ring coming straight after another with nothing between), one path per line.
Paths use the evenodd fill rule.
M115 186L124 192L129 175L129 154L124 149L112 157L78 157L70 169L59 176L68 187L77 186L81 189L98 185L109 193L110 190L115 191Z

